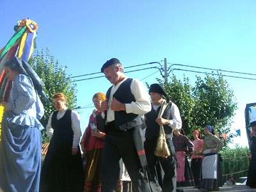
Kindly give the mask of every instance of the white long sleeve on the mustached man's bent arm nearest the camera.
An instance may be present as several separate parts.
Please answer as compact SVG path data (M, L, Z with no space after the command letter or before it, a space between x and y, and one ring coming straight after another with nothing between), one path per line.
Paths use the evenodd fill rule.
M135 102L125 104L126 113L143 115L151 110L151 104L145 86L138 79L132 79L131 92Z

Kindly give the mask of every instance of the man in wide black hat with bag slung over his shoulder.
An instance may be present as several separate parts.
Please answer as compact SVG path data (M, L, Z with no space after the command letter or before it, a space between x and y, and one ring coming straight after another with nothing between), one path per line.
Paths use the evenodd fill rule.
M157 184L161 184L163 192L176 191L176 164L175 164L175 149L172 143L173 130L179 130L182 127L179 108L173 103L168 102L168 94L161 84L151 84L149 95L152 100L152 109L145 115L145 122L147 125L144 142L145 152L147 156L148 168L150 170L151 179ZM161 117L158 113L163 105L163 96L166 98L168 105ZM157 146L157 139L159 138L159 125L163 125L164 133L166 134L166 141L171 156L167 158L157 157L154 152ZM161 163L164 171L163 180L156 179L155 166L157 161Z

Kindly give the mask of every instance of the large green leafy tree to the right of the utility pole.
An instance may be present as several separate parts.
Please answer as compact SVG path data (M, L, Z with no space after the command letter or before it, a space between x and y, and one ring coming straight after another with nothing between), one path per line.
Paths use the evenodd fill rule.
M172 74L168 83L157 79L177 104L182 118L182 128L188 136L195 129L203 132L204 125L212 125L220 133L230 133L232 116L237 109L236 99L232 89L221 74L196 77L195 86L189 83L188 77L183 81ZM229 134L227 142L234 137Z

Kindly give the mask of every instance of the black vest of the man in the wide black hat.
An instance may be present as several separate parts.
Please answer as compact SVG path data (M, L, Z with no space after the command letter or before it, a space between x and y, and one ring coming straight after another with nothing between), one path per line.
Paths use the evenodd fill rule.
M151 111L145 115L146 124L147 124L145 137L148 139L152 139L152 138L157 139L159 136L160 126L156 123L156 118L158 116L160 108L161 106L159 106L159 108L157 108L157 111L155 111L152 107ZM172 102L170 102L166 107L166 109L164 110L162 118L170 119L171 108L172 108ZM164 133L166 134L165 138L166 139L172 138L172 132L173 132L172 127L170 127L169 125L163 125L163 126L164 126Z

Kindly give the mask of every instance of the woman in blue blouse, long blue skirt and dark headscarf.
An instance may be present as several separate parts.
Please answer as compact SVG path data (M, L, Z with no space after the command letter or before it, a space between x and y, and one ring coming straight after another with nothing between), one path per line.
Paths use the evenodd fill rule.
M28 63L16 57L4 64L6 77L13 83L8 102L2 103L0 191L39 191L40 131L44 129L39 120L44 115L44 106L35 88L39 77L30 76L24 69L29 65L25 65Z

